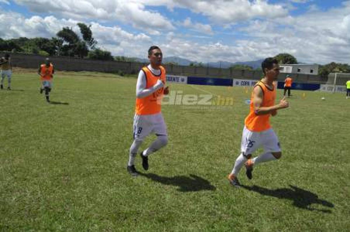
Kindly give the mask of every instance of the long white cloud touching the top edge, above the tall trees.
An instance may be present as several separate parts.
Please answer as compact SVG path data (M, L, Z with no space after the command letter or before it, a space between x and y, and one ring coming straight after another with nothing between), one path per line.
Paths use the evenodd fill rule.
M119 20L145 30L174 29L166 17L158 12L146 10L145 5L137 0L15 0L15 2L27 6L36 13L50 13L78 20Z

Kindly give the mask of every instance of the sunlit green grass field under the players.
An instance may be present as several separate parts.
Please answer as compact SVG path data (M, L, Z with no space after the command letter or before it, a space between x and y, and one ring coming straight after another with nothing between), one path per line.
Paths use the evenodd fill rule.
M168 146L147 172L138 156L133 178L136 78L57 72L48 104L35 71L15 70L13 90L0 91L0 231L350 230L344 94L292 91L290 108L271 119L282 158L252 180L242 170L234 188L226 176L249 108L243 88L170 85L233 105L163 106Z

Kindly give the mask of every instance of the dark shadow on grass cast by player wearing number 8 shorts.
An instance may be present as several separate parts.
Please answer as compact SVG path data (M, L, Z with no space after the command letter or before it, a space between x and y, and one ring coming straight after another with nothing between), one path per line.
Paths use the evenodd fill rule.
M158 176L153 173L140 173L140 175L145 176L153 181L167 184L179 186L177 189L180 192L195 192L201 190L215 190L215 186L211 185L209 181L203 179L202 177L196 175L189 176L174 176L174 177L166 177L166 176Z

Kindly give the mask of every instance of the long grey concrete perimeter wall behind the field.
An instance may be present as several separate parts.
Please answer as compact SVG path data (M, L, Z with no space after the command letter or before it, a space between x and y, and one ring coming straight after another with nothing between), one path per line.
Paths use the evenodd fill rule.
M3 54L1 54L3 56ZM45 56L10 54L12 65L21 68L38 68L44 62ZM118 72L123 71L128 74L136 74L146 65L139 62L120 62L120 61L98 61L91 59L79 59L74 57L52 56L49 57L56 70L61 71L97 71L97 72ZM164 65L167 73L172 75L198 76L198 77L221 77L236 79L259 80L262 77L260 71L245 71L209 67L194 67L182 65ZM281 73L279 80L284 80L287 73ZM294 82L300 83L319 83L324 84L326 79L318 75L291 74Z

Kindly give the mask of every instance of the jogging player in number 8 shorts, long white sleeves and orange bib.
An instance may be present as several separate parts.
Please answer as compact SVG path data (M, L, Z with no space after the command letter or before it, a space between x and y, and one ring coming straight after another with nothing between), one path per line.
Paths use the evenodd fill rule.
M148 49L150 64L143 67L136 85L136 109L134 115L134 141L130 147L127 171L137 176L135 157L145 137L155 133L157 139L143 152L142 167L148 170L148 156L164 147L168 143L167 127L161 113L161 100L163 94L168 94L168 87L164 88L166 77L162 64L162 51L157 46Z

